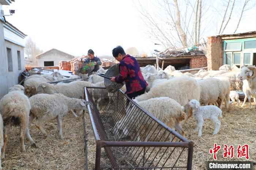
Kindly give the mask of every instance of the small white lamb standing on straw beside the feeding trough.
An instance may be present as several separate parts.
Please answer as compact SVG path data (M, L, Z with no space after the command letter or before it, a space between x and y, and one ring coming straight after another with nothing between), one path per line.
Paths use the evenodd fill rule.
M214 122L215 128L213 135L218 133L219 128L221 127L221 121L219 121L218 117L222 117L220 108L214 105L200 106L200 103L195 99L189 101L188 107L192 108L193 117L196 119L195 132L199 129L199 137L202 136L202 128L205 119L211 119Z

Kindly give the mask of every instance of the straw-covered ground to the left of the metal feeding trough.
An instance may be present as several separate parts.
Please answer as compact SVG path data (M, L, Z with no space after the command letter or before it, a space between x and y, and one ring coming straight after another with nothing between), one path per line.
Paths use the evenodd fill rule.
M87 117L87 127L90 119ZM59 131L56 119L42 124L48 136L43 137L34 123L30 125L30 134L38 148L30 147L25 141L26 152L20 152L19 128L12 127L8 134L3 169L84 169L84 142L82 116L75 118L69 114L63 120L63 136ZM93 136L93 134L91 134ZM94 142L91 139L90 142Z

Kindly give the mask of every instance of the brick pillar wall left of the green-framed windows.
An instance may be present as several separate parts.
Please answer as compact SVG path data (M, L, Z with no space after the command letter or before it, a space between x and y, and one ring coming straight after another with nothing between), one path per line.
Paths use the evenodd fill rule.
M209 36L207 40L208 70L219 70L223 65L223 42L221 37Z

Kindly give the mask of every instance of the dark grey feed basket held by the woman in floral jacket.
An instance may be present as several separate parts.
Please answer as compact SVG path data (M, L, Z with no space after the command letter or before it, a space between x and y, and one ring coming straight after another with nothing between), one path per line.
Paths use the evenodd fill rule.
M108 69L105 74L98 74L101 77L104 77L104 85L109 93L115 93L118 89L121 89L124 85L123 83L117 83L110 81L110 77L116 77L119 74L119 64L113 65Z

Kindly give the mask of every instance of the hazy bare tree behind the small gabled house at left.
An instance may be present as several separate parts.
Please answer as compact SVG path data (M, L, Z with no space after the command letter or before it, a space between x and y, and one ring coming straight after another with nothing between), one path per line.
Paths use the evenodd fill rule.
M42 50L40 50L35 42L29 37L26 41L25 45L25 54L27 55L27 58L32 61L33 66L37 66L36 58L38 54L43 53Z

